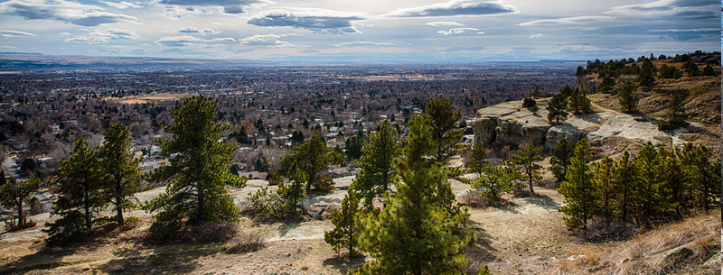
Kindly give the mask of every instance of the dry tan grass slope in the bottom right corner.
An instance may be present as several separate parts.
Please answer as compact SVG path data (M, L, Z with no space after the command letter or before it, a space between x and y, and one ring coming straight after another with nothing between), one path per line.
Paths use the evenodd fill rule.
M719 272L720 211L639 234L627 242L581 245L556 261L559 274ZM710 260L710 261L709 261ZM711 262L712 261L712 262Z

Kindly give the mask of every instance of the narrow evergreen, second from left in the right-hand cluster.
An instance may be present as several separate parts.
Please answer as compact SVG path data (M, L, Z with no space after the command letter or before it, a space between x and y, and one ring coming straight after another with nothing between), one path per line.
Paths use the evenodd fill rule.
M615 161L605 156L599 162L593 163L593 171L597 190L596 197L599 199L595 207L596 214L605 218L606 225L609 227L615 213L615 187L613 186Z

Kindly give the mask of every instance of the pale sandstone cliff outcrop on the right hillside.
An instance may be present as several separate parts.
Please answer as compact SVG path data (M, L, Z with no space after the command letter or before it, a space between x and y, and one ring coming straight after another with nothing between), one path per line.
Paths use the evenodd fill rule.
M537 146L544 146L545 150L562 139L575 143L582 138L594 142L608 137L623 137L633 142L653 142L656 145L682 143L676 138L677 133L658 131L654 119L599 107L594 108L591 114L568 115L564 124L553 126L547 120L547 103L548 99L538 100L540 111L537 114L522 108L521 101L480 109L473 127L474 138L481 138L486 145L519 145L531 141ZM695 127L694 124L692 126Z

